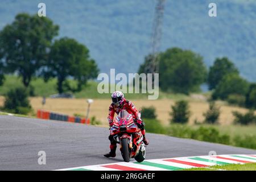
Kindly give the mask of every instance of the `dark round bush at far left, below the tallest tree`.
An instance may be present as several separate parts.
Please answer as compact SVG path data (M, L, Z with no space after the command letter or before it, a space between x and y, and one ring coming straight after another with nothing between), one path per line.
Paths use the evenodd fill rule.
M28 101L27 89L20 87L9 90L5 97L3 109L17 114L29 113L31 105Z

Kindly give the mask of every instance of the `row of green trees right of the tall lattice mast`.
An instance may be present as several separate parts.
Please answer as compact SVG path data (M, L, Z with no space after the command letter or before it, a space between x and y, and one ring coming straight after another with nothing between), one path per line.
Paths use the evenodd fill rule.
M144 72L151 59L152 56L145 58L139 73ZM231 104L256 108L256 84L242 78L227 57L217 58L209 72L203 57L189 50L167 49L159 54L158 60L159 86L164 91L189 94L199 91L200 85L207 82L213 91L213 100L227 100Z

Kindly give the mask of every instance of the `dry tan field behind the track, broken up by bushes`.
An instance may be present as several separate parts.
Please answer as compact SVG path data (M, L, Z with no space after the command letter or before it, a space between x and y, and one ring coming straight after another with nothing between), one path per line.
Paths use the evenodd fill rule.
M42 98L35 97L30 98L31 105L33 109L36 111L38 109L45 109L49 111L55 111L57 113L63 114L86 114L87 103L85 99L63 99L63 98L47 98L46 105L42 106ZM170 110L171 105L174 104L174 101L164 99L164 100L133 100L134 105L137 109L142 106L155 106L156 114L158 115L158 119L164 124L168 125L170 121ZM3 97L0 97L0 105L3 104ZM98 120L102 122L102 125L107 125L108 122L106 117L108 115L108 107L110 104L110 100L105 99L95 99L90 109L90 117L95 116ZM240 107L233 106L225 106L222 102L218 102L218 105L221 106L221 115L220 115L220 123L223 125L228 125L233 122L233 114L232 111L237 110L241 112L245 112L246 109L242 109ZM189 123L193 123L195 119L198 121L203 121L204 116L203 113L208 109L208 103L205 101L191 101L189 102L190 110L191 110L191 118Z

